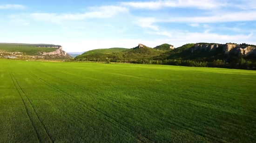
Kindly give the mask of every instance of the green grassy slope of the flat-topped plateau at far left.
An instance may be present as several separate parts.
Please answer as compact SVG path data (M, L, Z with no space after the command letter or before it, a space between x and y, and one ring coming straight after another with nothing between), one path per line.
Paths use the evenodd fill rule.
M51 52L57 50L58 48L46 48L46 47L29 47L29 46L14 46L14 45L1 45L0 51L7 52L22 52L26 53L26 55L40 55L38 52Z

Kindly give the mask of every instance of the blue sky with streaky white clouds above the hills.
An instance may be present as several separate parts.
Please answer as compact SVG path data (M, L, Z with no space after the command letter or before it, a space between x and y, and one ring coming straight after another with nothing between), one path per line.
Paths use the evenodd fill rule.
M67 52L256 44L256 0L1 0L0 42L60 44Z

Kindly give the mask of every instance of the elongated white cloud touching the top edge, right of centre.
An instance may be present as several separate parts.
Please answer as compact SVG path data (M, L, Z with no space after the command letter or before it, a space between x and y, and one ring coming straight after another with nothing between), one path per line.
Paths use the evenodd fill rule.
M122 2L123 6L141 9L160 9L162 7L195 7L199 9L213 9L227 6L226 0L158 0L147 2Z

